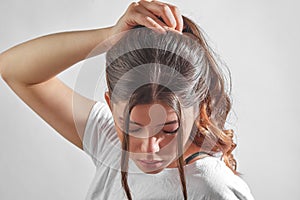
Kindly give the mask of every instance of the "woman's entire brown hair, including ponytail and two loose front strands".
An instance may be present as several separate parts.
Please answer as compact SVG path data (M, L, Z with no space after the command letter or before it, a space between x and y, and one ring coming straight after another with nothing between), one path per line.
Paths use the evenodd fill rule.
M200 28L183 17L183 34L159 34L148 28L126 33L106 54L106 79L111 104L127 101L122 141L122 185L132 199L128 176L128 124L131 110L138 104L164 103L176 112L193 106L199 110L190 134L192 141L209 153L222 152L226 165L235 173L233 131L224 125L231 109L230 76L219 66ZM162 67L167 66L167 67ZM179 75L178 75L179 74ZM226 88L227 81L229 87ZM145 84L143 84L145 83ZM177 166L184 199L187 199L183 170L182 129L177 136Z

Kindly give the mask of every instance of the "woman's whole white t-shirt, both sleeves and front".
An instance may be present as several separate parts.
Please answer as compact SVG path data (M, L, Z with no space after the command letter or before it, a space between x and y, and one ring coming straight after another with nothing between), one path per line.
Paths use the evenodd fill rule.
M96 166L96 174L86 199L127 199L121 185L121 144L111 111L102 102L97 102L90 112L83 148ZM220 158L205 157L186 165L184 170L188 199L254 199L247 184L234 175ZM134 200L183 199L176 168L166 168L158 174L145 174L129 161L128 185Z

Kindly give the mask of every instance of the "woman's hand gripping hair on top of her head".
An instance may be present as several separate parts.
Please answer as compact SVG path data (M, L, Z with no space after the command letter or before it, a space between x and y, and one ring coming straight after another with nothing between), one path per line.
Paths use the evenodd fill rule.
M166 29L182 32L183 19L176 6L156 0L141 0L129 5L117 24L112 27L111 36L128 31L137 25L143 25L161 33L164 33Z

